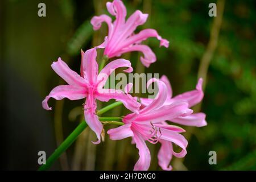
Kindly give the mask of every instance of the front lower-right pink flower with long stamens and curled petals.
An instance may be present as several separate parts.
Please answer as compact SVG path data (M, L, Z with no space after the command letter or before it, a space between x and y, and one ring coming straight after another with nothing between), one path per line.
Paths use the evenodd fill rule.
M173 118L185 117L192 113L188 109L186 101L174 101L170 105L163 105L167 98L167 87L159 80L151 79L151 82L158 82L159 92L158 96L152 102L139 111L139 114L128 114L123 118L125 125L111 129L108 131L110 139L119 140L127 137L133 137L133 142L139 150L139 160L134 166L134 170L147 170L150 167L150 151L148 150L145 140L150 143L156 143L159 140L166 142L174 142L182 148L180 153L172 151L179 157L185 156L187 151L187 140L183 135L179 134L184 132L183 129L173 125L166 125L162 121L170 121Z

